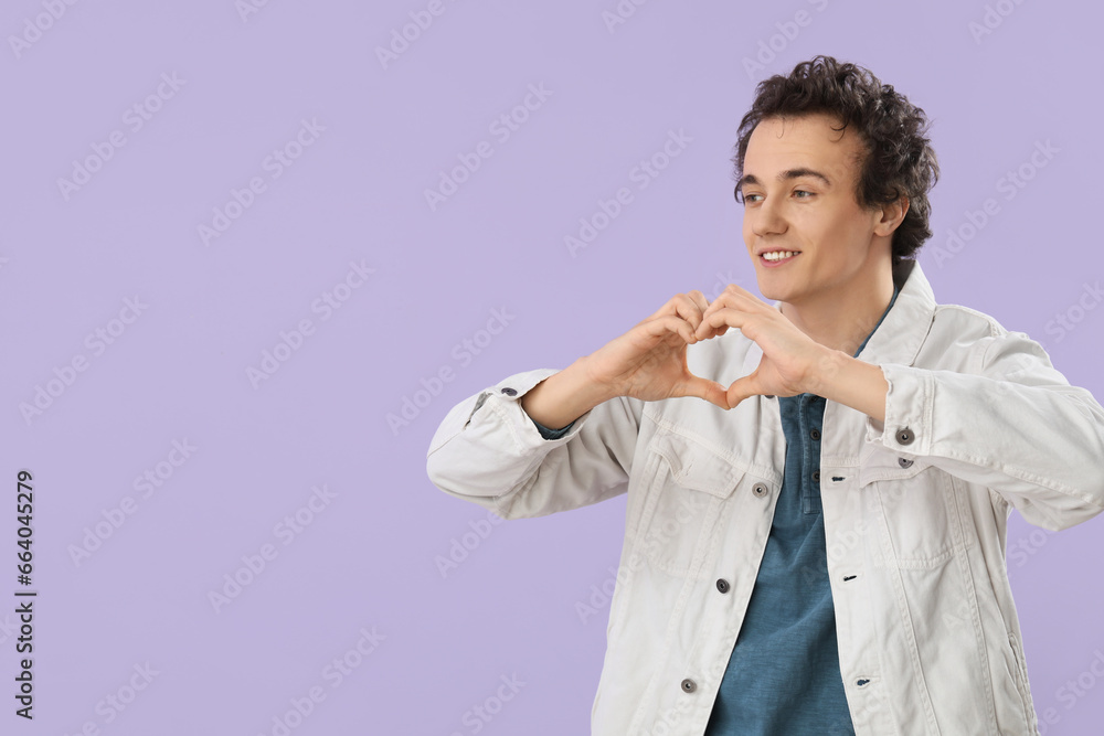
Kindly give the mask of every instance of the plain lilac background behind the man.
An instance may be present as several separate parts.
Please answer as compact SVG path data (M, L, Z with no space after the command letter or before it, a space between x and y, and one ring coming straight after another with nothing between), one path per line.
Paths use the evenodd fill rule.
M52 2L63 14L13 49ZM12 714L14 616L0 615L3 733L282 733L274 718L311 687L325 700L290 733L588 733L608 609L584 622L575 604L617 565L624 497L480 525L485 512L426 478L429 438L466 396L564 367L678 291L754 289L731 193L735 129L755 82L817 53L869 66L934 119L943 178L921 262L937 299L1028 332L1104 396L1104 310L1075 309L1104 275L1090 223L1104 168L1098 6L1005 0L1011 13L975 39L978 0L656 0L612 30L603 12L615 0L444 0L384 68L376 47L428 4L4 3L0 478L13 497L17 471L34 473L40 597L33 723ZM802 10L808 23L786 25ZM772 42L774 58L764 52L749 73L744 60ZM126 110L162 74L182 85L134 130ZM509 140L492 135L541 84L544 104ZM273 179L266 157L304 119L325 130ZM126 145L66 199L59 179L115 130ZM692 142L639 190L630 171L669 130ZM493 154L432 211L424 191L480 141ZM1045 141L1059 152L1007 199L1000 179ZM265 190L205 245L198 227L253 177ZM572 257L564 236L620 186L633 203ZM999 213L937 257L987 198ZM350 262L374 274L338 289L349 298L323 320L312 305ZM97 354L86 335L118 331L136 296L147 308ZM508 327L461 358L492 309L512 316ZM1082 319L1060 331L1059 313ZM304 319L312 334L251 382L247 369ZM75 356L87 370L70 375ZM443 367L454 380L393 430L388 415ZM55 371L71 385L57 378L60 395L24 417ZM163 465L185 439L191 457ZM172 474L142 498L135 479L158 463ZM333 498L285 546L274 527L323 484ZM126 497L135 512L74 559ZM13 500L0 523L4 600L19 587ZM1104 663L1101 523L1058 535L1018 513L1009 524L1044 733L1096 734L1104 722L1104 682L1084 674ZM490 533L443 575L438 556L476 527ZM277 556L216 611L209 591L265 544ZM364 657L362 628L385 637ZM325 668L347 654L357 665L333 686ZM146 663L158 674L108 710ZM473 706L514 674L517 695L478 721ZM1094 687L1063 698L1079 676Z

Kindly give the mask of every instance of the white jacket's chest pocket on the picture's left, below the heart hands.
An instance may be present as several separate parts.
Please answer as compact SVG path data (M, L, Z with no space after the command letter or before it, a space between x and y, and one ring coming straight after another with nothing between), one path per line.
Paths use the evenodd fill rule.
M660 429L648 445L634 552L677 577L698 577L716 553L722 510L743 467L705 446Z

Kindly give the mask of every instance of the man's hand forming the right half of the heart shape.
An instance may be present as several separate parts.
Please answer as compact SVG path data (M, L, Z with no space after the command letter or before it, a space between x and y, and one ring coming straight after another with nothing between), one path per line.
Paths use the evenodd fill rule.
M735 284L709 305L694 329L699 340L724 334L734 327L763 351L758 366L729 386L729 407L749 396L794 396L816 393L817 365L825 359L824 345L815 342L781 311Z

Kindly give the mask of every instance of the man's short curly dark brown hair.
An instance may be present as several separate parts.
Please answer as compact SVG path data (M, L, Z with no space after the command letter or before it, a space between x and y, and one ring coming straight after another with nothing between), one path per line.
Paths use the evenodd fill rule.
M854 124L866 157L856 182L856 201L864 207L909 198L909 212L893 231L893 264L913 258L932 237L927 193L940 180L940 164L926 138L930 121L924 110L882 84L867 68L818 55L794 67L789 76L776 74L755 87L755 102L740 121L735 179L744 175L747 141L760 121L774 117L832 115L842 131ZM736 190L736 201L743 204Z

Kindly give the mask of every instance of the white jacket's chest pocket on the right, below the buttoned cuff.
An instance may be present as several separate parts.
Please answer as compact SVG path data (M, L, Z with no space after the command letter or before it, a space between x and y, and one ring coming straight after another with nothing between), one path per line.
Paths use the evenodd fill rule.
M881 520L883 553L901 568L936 567L951 558L954 508L946 473L923 458L869 445L859 486Z

